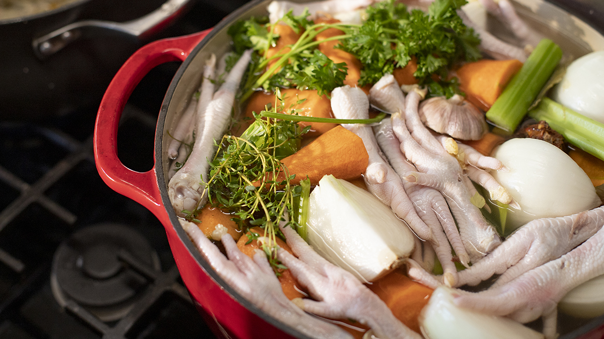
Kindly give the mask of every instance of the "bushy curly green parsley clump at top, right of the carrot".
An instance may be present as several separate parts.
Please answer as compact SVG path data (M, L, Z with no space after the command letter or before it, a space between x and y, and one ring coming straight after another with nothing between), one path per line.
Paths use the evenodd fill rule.
M367 20L350 28L342 48L363 64L359 85L376 83L384 74L404 67L414 56L420 85L432 96L458 92L457 81L447 81L456 63L481 58L480 39L457 15L466 0L435 0L428 13L408 11L404 4L387 0L367 8ZM437 78L437 79L435 79Z

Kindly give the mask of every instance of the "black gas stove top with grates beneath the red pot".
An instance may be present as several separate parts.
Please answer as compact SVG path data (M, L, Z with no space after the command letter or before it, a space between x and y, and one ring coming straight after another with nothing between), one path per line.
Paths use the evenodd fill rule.
M210 28L245 2L195 2L155 39ZM153 69L127 103L118 153L133 170L153 166L157 115L178 66ZM0 121L0 338L216 338L164 227L98 176L97 110Z

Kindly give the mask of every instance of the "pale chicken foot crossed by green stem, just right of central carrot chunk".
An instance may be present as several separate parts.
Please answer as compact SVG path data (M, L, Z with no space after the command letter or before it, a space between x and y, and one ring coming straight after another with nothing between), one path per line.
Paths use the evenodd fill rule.
M332 91L331 104L336 118L369 118L369 100L358 87L337 87ZM404 220L417 236L432 239L432 230L417 215L413 203L405 193L402 180L381 154L371 127L361 124L343 124L342 127L358 135L369 154L369 164L364 176L368 190L390 206L394 214Z

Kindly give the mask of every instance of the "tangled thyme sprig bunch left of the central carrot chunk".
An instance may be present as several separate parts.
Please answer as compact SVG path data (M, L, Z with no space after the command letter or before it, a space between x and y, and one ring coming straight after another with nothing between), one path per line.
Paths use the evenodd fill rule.
M232 212L240 229L260 226L265 230L263 236L269 241L263 242L262 249L275 268L279 268L275 224L284 220L286 211L295 211L302 192L301 186L291 185L294 176L289 175L280 160L298 150L301 136L308 130L309 127L298 127L297 122L255 115L255 121L242 136L223 136L210 162L208 182L203 183L208 203ZM277 180L281 177L284 179ZM199 210L188 218L194 220L198 213ZM290 223L297 226L295 220Z

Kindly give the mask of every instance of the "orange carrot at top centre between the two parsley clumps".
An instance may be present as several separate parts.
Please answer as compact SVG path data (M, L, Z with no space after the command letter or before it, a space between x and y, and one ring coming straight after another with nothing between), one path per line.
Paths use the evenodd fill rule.
M315 24L334 24L336 22L340 22L338 19L328 19L328 18L320 18L315 20ZM339 36L344 34L344 31L338 30L337 28L327 28L323 32L316 34L316 41L323 41L327 38ZM336 48L335 46L339 44L339 40L330 40L326 42L321 42L317 47L321 53L325 54L329 60L332 60L335 63L346 63L346 67L348 68L348 74L344 80L344 84L349 86L355 86L359 79L361 78L361 62L356 59L349 52L342 51L342 49Z

